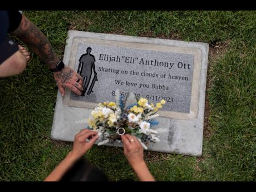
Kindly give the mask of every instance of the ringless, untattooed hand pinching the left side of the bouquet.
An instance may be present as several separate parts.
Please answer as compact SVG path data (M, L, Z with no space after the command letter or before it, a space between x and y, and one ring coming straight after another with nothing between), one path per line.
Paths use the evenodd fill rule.
M91 131L88 129L84 129L80 131L75 136L75 141L73 144L73 149L70 152L73 159L77 160L92 147L92 145L95 143L95 141L99 138L97 135L98 132ZM90 141L86 141L86 139L90 139Z

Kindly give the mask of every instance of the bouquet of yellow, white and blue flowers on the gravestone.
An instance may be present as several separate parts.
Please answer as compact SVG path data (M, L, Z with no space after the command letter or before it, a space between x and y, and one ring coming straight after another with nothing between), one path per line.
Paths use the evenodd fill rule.
M87 129L99 132L102 141L98 145L121 142L121 135L131 134L147 150L149 142L159 142L157 131L152 129L158 122L153 119L164 104L165 100L161 100L156 106L150 105L142 97L135 99L132 93L122 96L117 90L116 102L103 102L92 110Z

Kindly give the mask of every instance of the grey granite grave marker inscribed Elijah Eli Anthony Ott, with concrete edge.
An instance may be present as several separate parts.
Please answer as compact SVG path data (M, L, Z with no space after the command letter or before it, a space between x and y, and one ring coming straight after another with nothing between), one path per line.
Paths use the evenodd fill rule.
M85 91L66 90L63 98L58 91L52 139L73 141L87 125L75 122L99 102L115 101L119 89L154 104L166 100L160 142L149 150L201 155L208 44L69 31L63 61L83 76Z

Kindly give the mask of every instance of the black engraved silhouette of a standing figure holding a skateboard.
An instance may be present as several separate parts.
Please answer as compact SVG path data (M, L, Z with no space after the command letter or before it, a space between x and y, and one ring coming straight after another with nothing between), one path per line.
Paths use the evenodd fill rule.
M92 91L92 88L94 86L95 81L97 80L97 73L95 71L95 57L93 55L91 55L91 47L88 47L86 49L86 54L81 55L80 59L79 59L79 65L78 65L78 70L77 73L83 77L83 91L81 96L85 96L85 92L88 88L88 85L90 83L91 80L91 76L92 76L92 70L94 72L94 76L90 85L90 88L88 89L87 95L90 95Z

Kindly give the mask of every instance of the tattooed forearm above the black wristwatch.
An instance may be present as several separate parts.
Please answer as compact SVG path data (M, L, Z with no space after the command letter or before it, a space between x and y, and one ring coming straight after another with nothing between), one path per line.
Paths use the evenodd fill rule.
M24 15L22 16L21 24L16 31L12 32L12 35L17 36L21 41L26 43L48 67L55 68L58 61L60 61L47 37Z

